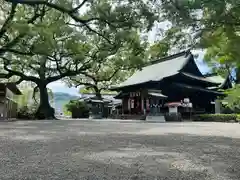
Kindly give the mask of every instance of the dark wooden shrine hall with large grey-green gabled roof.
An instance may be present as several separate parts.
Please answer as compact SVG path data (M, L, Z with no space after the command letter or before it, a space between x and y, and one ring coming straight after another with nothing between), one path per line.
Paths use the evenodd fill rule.
M214 101L231 88L229 76L203 75L190 51L153 61L112 88L122 99L123 114L162 114L167 103L191 102L195 113L213 113ZM179 107L183 112L186 108Z

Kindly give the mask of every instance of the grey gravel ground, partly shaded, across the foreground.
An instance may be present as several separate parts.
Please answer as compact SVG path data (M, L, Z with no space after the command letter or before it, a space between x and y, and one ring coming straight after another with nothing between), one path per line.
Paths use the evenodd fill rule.
M0 179L239 180L240 125L0 123Z

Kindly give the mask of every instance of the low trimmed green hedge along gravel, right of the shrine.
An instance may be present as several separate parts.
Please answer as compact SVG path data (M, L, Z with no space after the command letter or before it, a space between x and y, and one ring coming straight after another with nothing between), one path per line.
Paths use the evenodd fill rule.
M237 122L237 114L201 114L193 116L193 121L204 122Z

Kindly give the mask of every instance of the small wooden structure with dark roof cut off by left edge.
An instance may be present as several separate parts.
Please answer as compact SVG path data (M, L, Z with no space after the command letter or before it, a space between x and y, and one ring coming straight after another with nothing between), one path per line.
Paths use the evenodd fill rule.
M0 83L0 120L17 117L17 102L14 95L21 95L15 83Z

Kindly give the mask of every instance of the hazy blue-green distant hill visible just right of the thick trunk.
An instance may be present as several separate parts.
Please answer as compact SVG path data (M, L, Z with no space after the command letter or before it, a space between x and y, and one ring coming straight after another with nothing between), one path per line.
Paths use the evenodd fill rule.
M62 92L54 92L53 93L53 107L56 109L56 111L63 111L63 107L65 104L67 104L70 100L78 99L80 96L74 96L68 93L62 93Z

